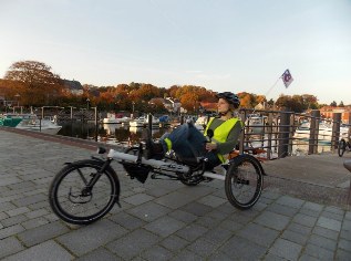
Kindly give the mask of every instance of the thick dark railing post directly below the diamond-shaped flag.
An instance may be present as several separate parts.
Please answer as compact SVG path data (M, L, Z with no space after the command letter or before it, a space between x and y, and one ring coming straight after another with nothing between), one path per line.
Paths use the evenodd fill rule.
M288 112L287 108L285 108L282 112L280 112L279 145L278 145L278 157L279 158L285 158L288 156L290 115L291 115L291 113Z

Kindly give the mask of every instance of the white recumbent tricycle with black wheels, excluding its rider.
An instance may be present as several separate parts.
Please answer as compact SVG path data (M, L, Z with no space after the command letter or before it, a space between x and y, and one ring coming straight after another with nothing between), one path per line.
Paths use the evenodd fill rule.
M251 208L261 195L264 170L260 163L250 155L239 155L230 159L229 164L221 165L224 175L220 175L220 169L216 169L217 173L206 171L206 157L192 163L172 156L159 160L146 159L142 157L142 145L131 149L125 153L110 149L104 159L92 157L93 159L66 164L55 175L49 188L49 201L54 213L74 225L89 225L104 217L118 203L121 191L117 174L110 166L113 160L121 163L131 178L136 177L141 182L144 182L144 177L146 180L148 173L153 173L152 179L163 179L156 178L158 174L187 186L211 179L224 180L227 199L234 207L242 210ZM105 154L106 149L99 148L97 153ZM104 180L100 181L102 177ZM97 189L93 189L95 186Z

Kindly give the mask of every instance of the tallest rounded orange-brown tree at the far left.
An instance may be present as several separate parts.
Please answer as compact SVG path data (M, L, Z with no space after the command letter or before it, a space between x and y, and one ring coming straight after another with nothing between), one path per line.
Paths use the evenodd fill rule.
M51 66L37 61L13 63L4 79L24 85L21 94L21 102L24 105L49 105L61 95L63 87L60 76L51 72Z

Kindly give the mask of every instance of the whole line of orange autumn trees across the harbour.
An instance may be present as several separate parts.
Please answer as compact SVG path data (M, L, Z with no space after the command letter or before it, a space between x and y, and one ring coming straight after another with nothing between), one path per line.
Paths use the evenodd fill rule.
M144 113L166 113L159 97L179 101L188 112L198 112L202 103L216 103L216 92L203 86L172 85L168 88L148 83L117 84L116 86L82 85L80 94L71 92L65 81L52 72L51 66L38 61L14 62L0 80L0 96L21 106L97 106L100 111L140 111ZM317 96L280 95L277 101L267 101L265 95L247 92L238 93L241 107L254 108L258 104L267 108L288 107L293 112L319 108ZM154 100L153 103L149 103ZM342 104L342 102L341 102ZM2 104L2 109L7 104ZM337 105L333 102L331 105ZM343 105L343 104L342 104Z

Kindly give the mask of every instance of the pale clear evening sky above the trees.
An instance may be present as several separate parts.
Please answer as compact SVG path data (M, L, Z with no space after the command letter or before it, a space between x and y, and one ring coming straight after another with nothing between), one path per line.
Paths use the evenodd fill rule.
M1 0L0 77L23 60L96 86L351 104L351 0Z

